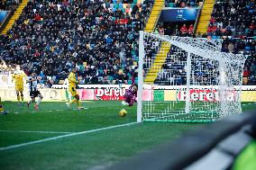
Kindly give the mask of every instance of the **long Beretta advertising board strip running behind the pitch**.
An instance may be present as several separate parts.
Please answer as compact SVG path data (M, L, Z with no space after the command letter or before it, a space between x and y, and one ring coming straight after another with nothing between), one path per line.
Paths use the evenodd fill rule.
M81 100L113 100L122 101L125 91L130 85L79 85L78 94ZM67 89L63 85L53 85L54 88L42 88L41 94L44 100L66 100ZM217 102L220 97L217 86L191 86L191 101ZM16 100L14 87L1 87L2 100ZM187 91L184 85L144 85L142 93L143 101L186 101ZM237 91L233 90L224 97L227 101L238 100ZM29 100L29 92L24 88L25 100ZM242 86L242 102L256 102L256 85Z

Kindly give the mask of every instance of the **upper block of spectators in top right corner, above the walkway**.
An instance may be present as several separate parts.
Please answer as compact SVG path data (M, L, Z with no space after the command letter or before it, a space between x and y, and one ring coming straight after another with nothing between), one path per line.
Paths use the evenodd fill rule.
M252 0L215 3L208 26L208 35L253 37L255 31L255 3Z

